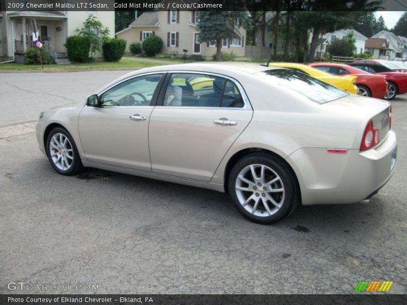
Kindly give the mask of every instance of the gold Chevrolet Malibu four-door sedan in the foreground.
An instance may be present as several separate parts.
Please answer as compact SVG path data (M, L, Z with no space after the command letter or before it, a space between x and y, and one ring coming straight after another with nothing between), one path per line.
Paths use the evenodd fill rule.
M228 192L279 221L299 204L354 203L390 179L389 102L293 70L185 64L127 74L40 114L39 147L64 175L95 167Z

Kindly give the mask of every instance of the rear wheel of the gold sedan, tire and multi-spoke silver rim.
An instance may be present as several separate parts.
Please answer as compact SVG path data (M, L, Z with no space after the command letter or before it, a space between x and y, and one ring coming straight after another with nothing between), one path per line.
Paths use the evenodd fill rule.
M292 170L267 154L242 158L230 172L228 190L239 212L259 224L275 223L296 206Z

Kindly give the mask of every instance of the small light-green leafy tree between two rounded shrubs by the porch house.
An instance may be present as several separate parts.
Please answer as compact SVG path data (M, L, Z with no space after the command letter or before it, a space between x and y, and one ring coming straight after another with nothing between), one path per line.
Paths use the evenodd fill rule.
M100 52L103 39L109 36L109 29L92 14L83 22L83 27L77 28L75 32L88 40L91 59L97 52Z

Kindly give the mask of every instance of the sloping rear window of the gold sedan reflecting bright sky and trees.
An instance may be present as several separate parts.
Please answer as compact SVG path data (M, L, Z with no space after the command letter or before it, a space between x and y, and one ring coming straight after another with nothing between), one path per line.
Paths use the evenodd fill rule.
M324 104L343 98L348 93L307 74L288 70L275 69L256 73L264 75L270 82L295 90L312 102Z

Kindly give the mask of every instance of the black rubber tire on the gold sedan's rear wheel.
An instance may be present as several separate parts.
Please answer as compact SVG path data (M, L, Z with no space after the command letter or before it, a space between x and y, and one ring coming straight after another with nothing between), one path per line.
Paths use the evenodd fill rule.
M276 206L271 205L271 201L269 201L269 203L267 204L269 206L269 208L271 206L271 207L277 209L276 212L274 212L274 214L272 214L272 215L269 215L270 212L268 212L268 209L266 209L266 206L264 205L264 200L261 199L261 196L267 196L267 194L263 195L262 190L260 191L262 193L259 196L260 197L259 199L261 199L258 204L259 211L256 210L256 213L261 214L261 215L264 214L265 216L258 216L258 215L252 214L255 204L253 203L253 206L251 206L250 204L246 205L248 209L252 208L252 212L250 212L246 209L246 207L244 207L241 204L241 202L238 198L238 196L240 196L241 199L242 198L245 199L244 196L246 196L246 197L258 196L258 193L255 193L256 191L252 191L250 189L251 185L249 185L249 184L247 184L247 186L250 189L250 191L240 192L240 195L238 195L239 191L236 190L237 179L238 179L239 173L241 173L242 171L244 172L245 169L247 169L250 165L254 165L254 166L265 165L269 169L274 171L280 178L279 181L281 182L282 187L284 189L284 193L283 193L284 197L282 197L281 195L277 195L277 196L281 196L280 199L282 202L279 209L277 209ZM260 170L261 170L261 168L260 168ZM271 173L271 171L270 171L270 173ZM248 175L250 175L250 174L251 173L248 173ZM244 177L246 177L246 176L244 176ZM265 153L253 153L253 154L243 157L232 168L230 175L229 175L229 180L228 180L228 190L229 190L230 197L231 197L232 201L234 201L235 206L238 209L238 211L240 212L240 214L242 214L245 218L247 218L248 220L250 220L252 222L255 222L258 224L269 225L269 224L276 223L276 222L282 220L283 218L287 217L298 206L300 200L299 200L299 188L297 186L296 181L297 180L295 178L295 174L294 174L293 170L291 168L289 168L289 166L287 164L285 164L280 158L269 155L269 154L265 154ZM238 183L240 183L240 182L238 182ZM244 183L245 182L243 182L243 184ZM264 187L264 185L259 187L259 189L263 188L263 187ZM280 188L281 188L281 186L280 186ZM254 189L254 187L253 187L253 189ZM249 196L250 192L253 192L251 196ZM273 196L275 196L275 195L273 195ZM253 198L256 198L256 197L253 197ZM257 199L257 200L259 200L259 199ZM265 197L265 200L267 201L266 197ZM262 204L263 204L263 208L261 208Z

